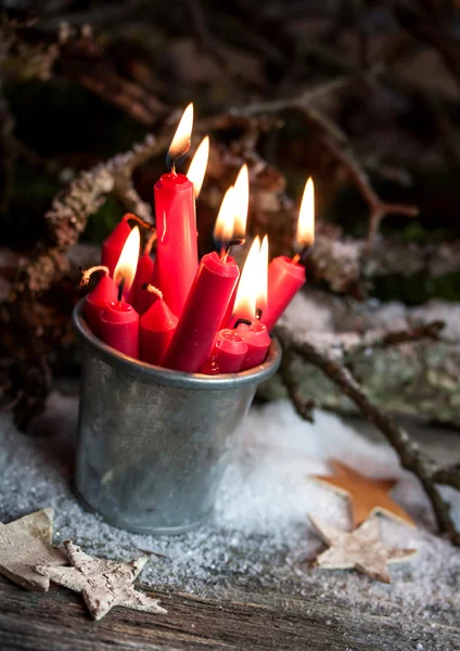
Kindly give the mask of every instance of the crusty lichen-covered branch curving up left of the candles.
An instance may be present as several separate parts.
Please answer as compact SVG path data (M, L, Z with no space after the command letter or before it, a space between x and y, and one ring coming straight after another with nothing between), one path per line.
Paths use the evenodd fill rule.
M129 152L82 171L54 199L47 213L49 245L38 246L35 255L20 267L9 301L0 314L3 323L0 349L14 349L16 355L10 392L13 398L21 393L15 405L15 418L21 427L26 427L31 418L43 410L51 386L36 298L67 275L68 248L78 242L88 217L97 213L110 194L123 191L125 209L152 222L150 206L137 195L131 175L136 167L166 149L167 143L168 139L148 136ZM11 329L11 323L17 322L21 329Z

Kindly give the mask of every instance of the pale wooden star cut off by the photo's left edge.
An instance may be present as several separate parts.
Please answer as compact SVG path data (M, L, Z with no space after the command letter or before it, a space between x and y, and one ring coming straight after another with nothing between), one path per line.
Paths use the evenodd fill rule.
M28 590L48 590L50 579L40 576L35 565L65 565L67 561L52 546L53 516L53 509L43 509L10 524L0 523L0 574Z

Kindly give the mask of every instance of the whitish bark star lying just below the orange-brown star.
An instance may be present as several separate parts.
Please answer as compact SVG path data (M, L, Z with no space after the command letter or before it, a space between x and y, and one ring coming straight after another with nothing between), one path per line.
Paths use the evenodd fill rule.
M382 583L391 583L387 563L404 563L417 553L417 549L384 547L379 535L379 522L371 518L354 532L337 529L309 516L312 525L329 545L315 564L324 570L357 570Z

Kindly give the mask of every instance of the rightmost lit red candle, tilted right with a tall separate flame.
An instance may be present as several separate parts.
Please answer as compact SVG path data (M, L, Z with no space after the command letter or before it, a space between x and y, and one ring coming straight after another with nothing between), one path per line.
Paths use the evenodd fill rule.
M315 189L308 179L297 222L297 242L301 252L292 259L279 256L268 268L268 305L263 322L270 332L298 290L305 284L306 275L302 260L310 253L315 240Z

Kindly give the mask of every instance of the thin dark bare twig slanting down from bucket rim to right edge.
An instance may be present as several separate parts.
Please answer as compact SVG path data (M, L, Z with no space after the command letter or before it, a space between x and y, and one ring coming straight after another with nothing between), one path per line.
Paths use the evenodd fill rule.
M362 416L385 436L386 441L396 450L401 467L419 477L433 507L439 531L447 534L453 545L460 546L460 532L457 531L450 516L450 507L443 499L436 486L436 482L439 482L439 475L436 475L437 469L421 452L407 432L368 398L365 390L355 380L349 369L342 366L332 355L321 350L310 341L296 341L286 328L278 328L277 335L281 341L283 353L290 356L297 355L320 369L331 382L336 384L356 404ZM298 408L297 412L302 416L302 410ZM446 476L440 475L440 480L443 478L446 480ZM449 475L449 483L452 485L451 475Z

